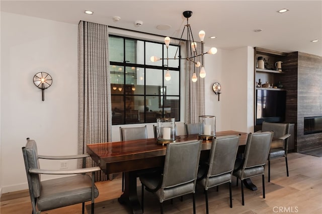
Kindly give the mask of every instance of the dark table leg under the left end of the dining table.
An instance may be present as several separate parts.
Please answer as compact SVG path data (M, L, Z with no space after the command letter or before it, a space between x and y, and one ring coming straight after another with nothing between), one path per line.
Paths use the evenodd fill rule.
M124 192L118 198L118 201L121 204L128 205L132 210L133 213L142 213L141 205L137 197L136 191L136 172L130 171L125 172L124 176Z

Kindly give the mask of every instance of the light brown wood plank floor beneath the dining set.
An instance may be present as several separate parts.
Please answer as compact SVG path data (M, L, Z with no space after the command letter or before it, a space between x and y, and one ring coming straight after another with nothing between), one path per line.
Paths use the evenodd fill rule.
M241 205L240 184L232 182L233 207L229 208L228 185L210 189L210 213L322 213L322 157L314 157L300 153L290 153L288 157L289 177L286 177L285 159L271 161L271 182L265 176L266 198L262 197L261 176L254 177L253 182L259 187L257 191L245 188L245 206ZM267 172L267 168L266 168ZM266 173L267 175L267 173ZM117 198L121 195L121 178L112 181L97 182L100 195L95 200L95 213L131 213ZM140 197L141 185L138 182ZM144 213L159 213L156 197L145 191ZM86 205L90 213L91 205ZM81 204L58 208L42 213L81 213ZM184 196L184 200L175 199L164 202L165 213L192 213L192 195ZM196 211L206 213L205 197L200 186L196 189ZM5 193L1 198L0 213L31 213L31 203L27 190Z

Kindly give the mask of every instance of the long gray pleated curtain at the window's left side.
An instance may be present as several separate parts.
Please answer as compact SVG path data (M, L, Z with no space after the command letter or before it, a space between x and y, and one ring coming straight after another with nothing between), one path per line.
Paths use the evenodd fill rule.
M108 26L81 21L78 24L78 153L86 145L112 140L111 80L108 58ZM87 166L96 166L88 159ZM97 181L107 180L101 171Z

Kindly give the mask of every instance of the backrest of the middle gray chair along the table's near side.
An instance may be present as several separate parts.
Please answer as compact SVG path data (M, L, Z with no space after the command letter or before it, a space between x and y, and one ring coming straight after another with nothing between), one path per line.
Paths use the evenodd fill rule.
M239 137L229 135L213 139L207 177L231 172L234 167Z

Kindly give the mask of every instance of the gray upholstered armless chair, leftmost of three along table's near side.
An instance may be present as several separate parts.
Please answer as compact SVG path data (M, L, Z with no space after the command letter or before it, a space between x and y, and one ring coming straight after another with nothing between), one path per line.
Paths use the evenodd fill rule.
M202 141L185 141L167 144L163 173L141 175L142 211L144 211L144 186L154 192L160 202L163 213L163 202L175 197L192 193L193 211L196 213L195 188Z

